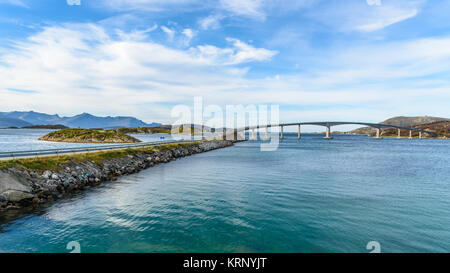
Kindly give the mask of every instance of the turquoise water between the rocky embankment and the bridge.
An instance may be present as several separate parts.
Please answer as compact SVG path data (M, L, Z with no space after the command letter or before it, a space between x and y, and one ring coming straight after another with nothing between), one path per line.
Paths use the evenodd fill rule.
M0 224L0 251L450 251L450 142L288 134L107 182ZM0 220L1 221L1 220Z

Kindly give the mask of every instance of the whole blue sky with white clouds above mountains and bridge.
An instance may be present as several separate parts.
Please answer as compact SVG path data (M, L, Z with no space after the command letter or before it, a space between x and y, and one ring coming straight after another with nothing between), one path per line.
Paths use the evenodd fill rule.
M135 116L279 105L281 122L450 117L450 2L0 0L0 109Z

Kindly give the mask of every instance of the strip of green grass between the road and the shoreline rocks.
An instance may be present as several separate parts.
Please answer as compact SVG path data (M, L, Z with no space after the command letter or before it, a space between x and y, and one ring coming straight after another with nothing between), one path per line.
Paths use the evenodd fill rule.
M192 143L175 143L175 144L163 144L158 146L152 146L147 148L129 148L120 149L112 151L100 151L92 153L78 153L70 155L61 156L46 156L46 157L36 157L36 158L24 158L24 159L14 159L0 161L0 169L7 168L19 168L26 169L30 171L44 172L46 170L58 171L61 170L64 165L75 162L87 162L91 161L95 164L101 164L105 160L111 160L115 158L122 158L127 155L134 155L137 153L151 153L154 151L164 151L168 149L177 149L182 147L190 147L198 145L201 142Z

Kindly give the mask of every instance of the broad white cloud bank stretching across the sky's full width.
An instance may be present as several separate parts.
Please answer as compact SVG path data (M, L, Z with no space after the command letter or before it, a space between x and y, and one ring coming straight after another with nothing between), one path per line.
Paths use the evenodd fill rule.
M315 69L271 78L249 77L241 67L269 61L275 51L227 40L224 48L182 50L95 24L47 27L0 50L0 108L169 122L171 104L202 96L207 104L281 104L285 121L448 116L442 102L450 100L450 80L434 76L450 73L450 38L335 51Z

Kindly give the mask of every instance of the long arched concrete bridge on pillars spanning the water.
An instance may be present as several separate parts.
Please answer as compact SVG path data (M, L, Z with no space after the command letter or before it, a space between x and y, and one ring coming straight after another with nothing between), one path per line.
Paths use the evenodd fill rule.
M433 137L436 136L436 133L434 132L430 132L427 130L423 130L423 129L418 129L418 128L408 128L408 127L402 127L402 126L396 126L396 125L390 125L390 124L380 124L380 123L368 123L368 122L353 122L353 121L320 121L320 122L295 122L295 123L281 123L281 124L268 124L268 125L257 125L257 126L247 126L247 127L243 127L243 128L238 128L235 130L234 134L234 139L238 139L238 132L245 132L245 131L249 131L251 130L251 136L250 139L251 140L255 140L256 139L256 134L255 134L255 130L257 129L265 129L265 139L269 138L269 134L268 134L268 128L271 127L280 127L280 138L283 139L283 131L284 131L284 127L288 127L288 126L298 126L298 139L301 138L301 126L303 125L316 125L316 126L323 126L325 127L325 139L332 139L333 137L331 136L331 127L332 126L338 126L338 125L363 125L363 126L368 126L368 127L372 127L376 129L376 135L375 138L380 139L381 137L381 131L383 129L397 129L397 135L398 138L401 137L400 133L401 130L406 130L409 131L409 138L412 138L412 132L419 132L419 138L422 138L422 133L431 135Z

